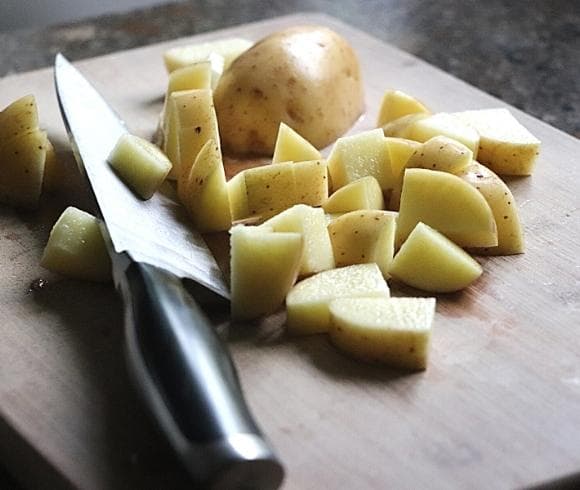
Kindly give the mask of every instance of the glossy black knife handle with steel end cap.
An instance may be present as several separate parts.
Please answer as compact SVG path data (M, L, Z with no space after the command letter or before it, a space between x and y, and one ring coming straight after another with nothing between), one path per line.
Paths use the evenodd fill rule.
M181 280L131 261L125 302L130 370L194 479L207 488L275 489L284 471L244 401L232 360Z

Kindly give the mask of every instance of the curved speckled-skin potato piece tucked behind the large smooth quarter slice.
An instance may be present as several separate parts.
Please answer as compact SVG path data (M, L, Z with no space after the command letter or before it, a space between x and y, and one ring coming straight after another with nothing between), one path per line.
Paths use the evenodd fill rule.
M524 252L524 232L516 200L509 187L490 169L471 162L458 177L475 187L485 198L497 226L497 246L472 248L475 255L512 255Z

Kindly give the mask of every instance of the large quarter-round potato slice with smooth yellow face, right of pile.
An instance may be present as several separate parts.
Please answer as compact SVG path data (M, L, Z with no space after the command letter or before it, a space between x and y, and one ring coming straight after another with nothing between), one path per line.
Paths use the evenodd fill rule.
M422 168L405 171L397 247L421 221L461 247L497 245L497 228L489 204L456 175Z

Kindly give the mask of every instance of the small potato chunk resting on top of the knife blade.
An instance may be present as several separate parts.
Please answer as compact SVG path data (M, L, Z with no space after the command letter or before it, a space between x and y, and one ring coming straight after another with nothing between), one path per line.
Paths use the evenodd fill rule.
M143 199L155 194L171 170L171 162L157 146L129 133L119 138L108 161L121 180Z

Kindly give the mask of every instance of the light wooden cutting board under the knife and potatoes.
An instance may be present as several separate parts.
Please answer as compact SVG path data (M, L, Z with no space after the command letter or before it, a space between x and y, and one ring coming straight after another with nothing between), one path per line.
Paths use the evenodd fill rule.
M334 28L360 56L368 110L354 130L372 127L389 87L434 111L505 106L321 15L78 66L134 132L151 136L166 82L161 54L169 46L258 39L305 22ZM91 202L68 154L51 70L0 80L0 106L27 93L36 95L70 172L38 212L0 206L0 458L31 488L187 486L127 378L113 288L59 278L38 265L63 207L90 210ZM220 323L249 403L286 464L285 488L517 487L580 470L580 143L512 110L543 142L533 177L509 182L527 251L481 259L485 273L475 285L438 298L426 372L358 364L324 336L287 338L280 316ZM31 288L38 278L45 287Z

